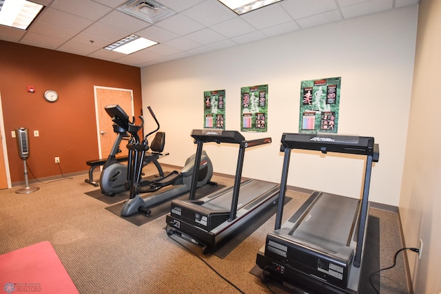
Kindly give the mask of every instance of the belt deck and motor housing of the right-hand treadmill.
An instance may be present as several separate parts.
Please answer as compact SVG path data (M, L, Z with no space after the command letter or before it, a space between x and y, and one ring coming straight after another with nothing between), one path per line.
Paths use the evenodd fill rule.
M288 280L320 280L309 291L347 293L358 291L360 267L353 266L360 200L315 191L280 229L267 235L257 255L261 269ZM300 276L300 277L298 277Z

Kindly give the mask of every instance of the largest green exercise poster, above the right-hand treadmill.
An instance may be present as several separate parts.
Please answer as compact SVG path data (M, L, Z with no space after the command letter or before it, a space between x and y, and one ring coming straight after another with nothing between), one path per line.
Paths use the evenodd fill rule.
M340 81L341 77L301 82L299 133L337 133Z

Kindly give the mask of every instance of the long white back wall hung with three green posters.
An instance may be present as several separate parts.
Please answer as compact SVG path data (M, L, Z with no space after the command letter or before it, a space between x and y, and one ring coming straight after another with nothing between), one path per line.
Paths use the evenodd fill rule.
M370 200L398 206L417 17L407 6L142 68L143 107L167 134L162 162L182 166L196 150L189 134L203 127L204 91L226 90L226 128L240 130L240 87L268 84L268 132L243 135L273 143L247 150L243 176L280 182L280 138L298 132L300 81L341 76L338 133L375 137ZM216 172L234 174L237 147L225 146L204 149ZM364 159L353 158L296 151L288 185L359 197Z

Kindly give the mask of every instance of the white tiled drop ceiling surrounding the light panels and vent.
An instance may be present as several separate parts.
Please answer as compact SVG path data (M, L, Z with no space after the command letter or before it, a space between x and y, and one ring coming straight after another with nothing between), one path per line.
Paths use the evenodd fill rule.
M283 0L238 16L217 0L155 0L173 12L150 23L120 10L127 0L31 0L45 6L27 31L0 39L136 67L417 4L419 0ZM130 34L158 42L129 55L103 49Z

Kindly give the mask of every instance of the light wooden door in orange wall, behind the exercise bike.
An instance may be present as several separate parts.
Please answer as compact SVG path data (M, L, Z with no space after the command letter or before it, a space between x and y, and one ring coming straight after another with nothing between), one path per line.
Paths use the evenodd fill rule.
M118 104L132 120L134 116L133 91L99 86L94 86L94 90L99 157L107 158L116 139L116 134L113 132L112 118L105 112L104 107ZM121 149L119 156L127 155L125 145L127 145L127 141L124 140L119 147Z

